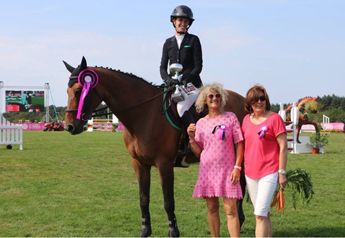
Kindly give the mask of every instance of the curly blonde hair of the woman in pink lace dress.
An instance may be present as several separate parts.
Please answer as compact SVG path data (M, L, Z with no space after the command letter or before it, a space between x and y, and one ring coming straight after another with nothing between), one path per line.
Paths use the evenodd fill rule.
M195 108L197 112L203 112L205 107L207 107L206 99L210 90L216 91L221 95L219 110L220 112L224 112L224 106L228 100L228 92L224 90L222 83L206 84L199 88L199 96L197 97L197 101L195 101Z

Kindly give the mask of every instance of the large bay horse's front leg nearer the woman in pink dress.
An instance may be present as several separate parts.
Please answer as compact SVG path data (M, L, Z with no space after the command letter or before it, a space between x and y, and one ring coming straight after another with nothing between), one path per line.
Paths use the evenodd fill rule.
M168 237L179 237L179 228L175 216L174 199L174 163L166 161L157 165L159 177L161 178L161 188L164 195L164 209L168 215L169 232Z

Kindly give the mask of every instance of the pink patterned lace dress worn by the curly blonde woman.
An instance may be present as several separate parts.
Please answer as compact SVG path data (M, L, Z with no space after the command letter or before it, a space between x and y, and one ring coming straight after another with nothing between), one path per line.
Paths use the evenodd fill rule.
M221 125L225 126L224 130ZM223 131L225 140L222 139ZM193 197L242 199L241 186L239 183L233 185L230 181L236 160L235 143L243 141L236 115L233 112L224 112L217 117L199 119L195 141L203 150Z

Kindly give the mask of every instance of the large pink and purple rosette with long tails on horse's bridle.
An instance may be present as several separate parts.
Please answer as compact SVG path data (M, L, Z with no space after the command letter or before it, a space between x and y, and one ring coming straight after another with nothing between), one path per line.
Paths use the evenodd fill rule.
M88 106L88 110L86 112L86 117L82 118L83 120L88 120L92 118L92 89L97 86L98 83L98 75L95 71L86 69L79 73L78 76L78 83L80 84L83 89L81 90L81 96L79 100L78 112L77 112L77 119L81 119L81 111L83 110L84 102L86 102ZM91 90L90 90L91 89Z

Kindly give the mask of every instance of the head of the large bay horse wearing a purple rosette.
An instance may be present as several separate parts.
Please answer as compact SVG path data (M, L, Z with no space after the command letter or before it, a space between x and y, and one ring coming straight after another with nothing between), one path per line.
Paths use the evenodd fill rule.
M65 61L63 63L71 72L67 88L65 128L70 134L76 135L83 132L86 122L92 118L92 110L99 104L92 101L92 91L97 86L98 75L88 68L84 57L77 68Z

